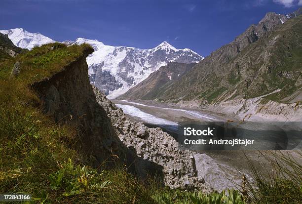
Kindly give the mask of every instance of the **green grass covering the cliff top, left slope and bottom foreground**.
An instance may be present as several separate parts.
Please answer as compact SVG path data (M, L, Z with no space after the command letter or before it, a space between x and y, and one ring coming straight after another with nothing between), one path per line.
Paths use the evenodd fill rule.
M87 157L76 151L75 127L59 125L43 115L41 101L29 88L30 83L59 72L87 49L92 48L87 44L66 47L52 43L0 61L0 192L30 193L32 203L244 204L251 201L259 204L267 195L288 198L292 193L295 193L292 200L278 199L283 199L283 203L301 203L301 190L298 191L301 177L293 183L295 187L289 179L280 183L290 186L285 188L289 193L279 183L265 185L266 180L261 178L256 180L257 188L250 185L252 194L248 198L235 190L227 194L171 190L160 186L154 178L141 181L118 163L114 169L106 169L104 165L97 169L90 167ZM22 62L22 70L10 79L10 71L17 61ZM211 95L218 92L221 90Z

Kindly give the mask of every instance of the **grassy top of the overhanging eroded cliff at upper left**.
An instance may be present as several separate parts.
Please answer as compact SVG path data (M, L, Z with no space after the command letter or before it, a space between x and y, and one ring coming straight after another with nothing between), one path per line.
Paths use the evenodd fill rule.
M1 66L0 79L8 79L12 65L20 61L22 70L16 80L27 84L37 82L61 71L64 66L82 56L86 49L92 48L87 44L67 47L58 42L35 47L25 54L6 60Z

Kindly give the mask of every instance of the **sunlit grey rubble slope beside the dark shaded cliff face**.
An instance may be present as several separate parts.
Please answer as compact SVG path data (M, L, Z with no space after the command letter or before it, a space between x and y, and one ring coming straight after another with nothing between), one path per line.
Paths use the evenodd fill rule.
M141 172L150 170L146 162L156 163L161 166L164 184L173 189L211 190L209 185L197 176L194 153L181 150L175 139L161 128L148 128L142 122L131 121L97 87L93 89L96 100L111 118L120 140L136 152L136 166Z

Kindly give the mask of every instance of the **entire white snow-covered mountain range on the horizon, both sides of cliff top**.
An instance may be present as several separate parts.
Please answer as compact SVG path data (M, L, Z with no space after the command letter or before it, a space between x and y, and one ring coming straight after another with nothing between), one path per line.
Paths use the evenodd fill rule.
M18 47L32 49L54 42L40 33L30 33L22 28L0 30ZM108 98L115 98L145 80L151 73L169 62L197 63L203 59L196 52L177 49L164 41L152 49L110 46L97 40L78 38L66 44L89 43L95 52L87 57L90 82L103 90Z

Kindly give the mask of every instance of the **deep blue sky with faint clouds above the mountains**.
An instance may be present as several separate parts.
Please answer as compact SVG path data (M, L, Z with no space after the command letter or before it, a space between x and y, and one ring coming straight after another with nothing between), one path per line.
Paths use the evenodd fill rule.
M289 13L301 5L302 0L1 0L0 30L139 48L168 41L207 56L266 12Z

